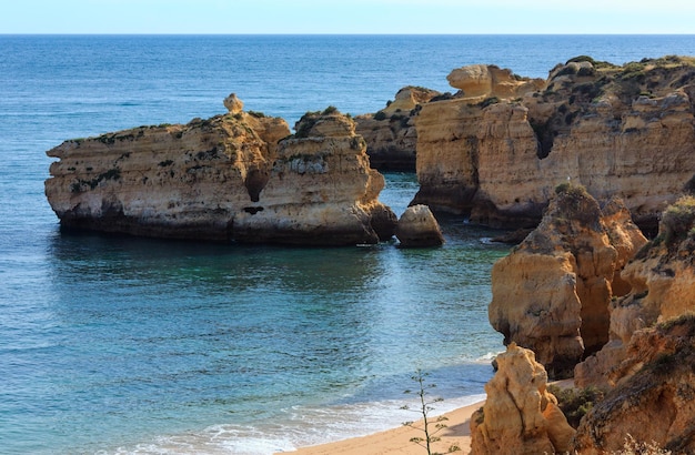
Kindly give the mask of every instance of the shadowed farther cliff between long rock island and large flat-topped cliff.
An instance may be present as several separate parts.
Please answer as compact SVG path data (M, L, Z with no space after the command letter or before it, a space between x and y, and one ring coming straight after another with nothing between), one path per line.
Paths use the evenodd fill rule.
M355 118L356 132L366 141L373 168L390 171L415 171L417 133L413 118L423 103L441 93L421 87L401 89L395 100L375 114Z

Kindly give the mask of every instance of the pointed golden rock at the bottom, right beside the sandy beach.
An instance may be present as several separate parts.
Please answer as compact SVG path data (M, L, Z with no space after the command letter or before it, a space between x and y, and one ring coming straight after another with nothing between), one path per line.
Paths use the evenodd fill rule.
M487 400L471 417L472 455L536 455L572 448L574 429L547 392L547 374L532 351L507 346L485 385Z

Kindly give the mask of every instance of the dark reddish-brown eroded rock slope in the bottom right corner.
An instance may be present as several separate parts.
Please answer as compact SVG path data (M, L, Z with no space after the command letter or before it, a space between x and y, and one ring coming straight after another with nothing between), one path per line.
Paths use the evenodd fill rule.
M622 367L629 371L584 416L578 454L614 453L626 435L674 454L695 453L695 316L635 332Z

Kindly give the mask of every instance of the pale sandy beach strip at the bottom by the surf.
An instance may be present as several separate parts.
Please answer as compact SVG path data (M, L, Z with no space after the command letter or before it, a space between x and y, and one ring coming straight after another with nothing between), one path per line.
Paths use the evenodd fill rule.
M479 410L484 402L454 410L444 414L449 421L444 422L446 428L437 433L441 441L433 445L433 452L446 453L450 447L457 446L462 454L471 451L471 415ZM422 427L422 422L416 425ZM431 426L432 428L433 426ZM401 426L369 436L354 437L330 444L322 444L311 447L302 447L298 455L376 455L376 454L400 454L400 455L422 455L425 449L415 443L410 442L412 437L423 437L422 431Z

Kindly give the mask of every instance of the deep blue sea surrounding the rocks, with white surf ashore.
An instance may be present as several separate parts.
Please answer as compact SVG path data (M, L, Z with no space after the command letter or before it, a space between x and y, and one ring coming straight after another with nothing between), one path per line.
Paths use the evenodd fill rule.
M288 249L62 233L43 195L66 139L246 110L382 109L457 67L546 77L695 54L693 36L0 36L0 453L271 454L397 426L416 368L471 403L494 232L446 244ZM417 191L387 174L401 214Z

